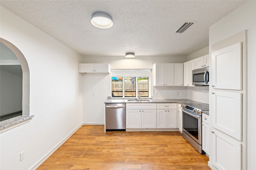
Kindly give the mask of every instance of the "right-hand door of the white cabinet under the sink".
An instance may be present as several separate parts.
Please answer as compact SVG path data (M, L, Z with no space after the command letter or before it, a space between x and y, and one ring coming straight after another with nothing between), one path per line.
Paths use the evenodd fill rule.
M141 114L141 128L156 128L155 109L143 109Z

